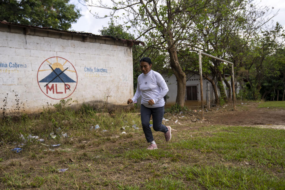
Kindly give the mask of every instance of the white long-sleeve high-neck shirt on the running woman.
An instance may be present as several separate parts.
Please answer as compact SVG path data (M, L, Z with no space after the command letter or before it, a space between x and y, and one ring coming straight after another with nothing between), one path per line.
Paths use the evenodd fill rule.
M153 70L147 74L140 74L137 77L137 91L132 98L133 102L142 96L141 103L145 107L162 107L164 106L163 96L168 92L168 87L163 77ZM153 99L154 104L148 105L148 101Z

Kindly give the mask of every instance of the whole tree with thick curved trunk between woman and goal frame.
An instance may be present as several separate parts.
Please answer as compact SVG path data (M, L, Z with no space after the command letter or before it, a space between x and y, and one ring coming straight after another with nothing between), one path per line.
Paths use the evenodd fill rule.
M170 65L177 80L176 103L183 107L186 91L186 75L183 72L177 50L184 46L183 41L191 38L193 18L199 18L200 12L208 3L207 0L187 1L117 1L111 0L108 6L102 0L85 1L89 6L111 10L109 15L115 19L125 19L125 27L135 29L140 40L148 39L153 50L166 50L168 59L163 64ZM123 17L116 16L118 11L124 10ZM97 18L100 18L96 14ZM190 39L189 39L190 40ZM167 62L168 61L168 62Z

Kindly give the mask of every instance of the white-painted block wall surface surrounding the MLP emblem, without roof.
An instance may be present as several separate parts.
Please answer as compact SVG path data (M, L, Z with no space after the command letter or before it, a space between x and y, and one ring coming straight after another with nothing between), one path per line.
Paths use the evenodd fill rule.
M72 63L77 72L76 89L67 98L77 100L79 104L104 102L105 96L110 93L108 102L115 105L126 105L127 99L132 98L133 69L130 47L0 31L1 102L8 93L8 109L15 108L14 90L18 94L20 102L24 102L26 113L41 111L43 106L47 107L46 102L52 105L58 103L60 99L52 99L45 95L46 93L42 92L37 81L41 64L47 58L56 56ZM23 64L26 68L10 67L9 63ZM5 67L6 64L7 67ZM48 63L43 64L48 70ZM63 62L61 64L63 65ZM67 62L67 64L69 63ZM63 67L65 69L64 65ZM94 72L94 67L107 69L107 72ZM93 72L86 71L86 68L93 69ZM71 71L72 69L69 64L68 70L70 71L64 73L67 76L75 76L75 72ZM55 90L56 83L49 85L52 84L54 84ZM70 84L75 85L75 83ZM58 93L64 94L64 84L57 83L57 85ZM45 92L45 89L43 91ZM49 94L52 94L52 91L49 91ZM56 98L57 95L61 94L55 92L53 95ZM0 106L2 107L2 105Z

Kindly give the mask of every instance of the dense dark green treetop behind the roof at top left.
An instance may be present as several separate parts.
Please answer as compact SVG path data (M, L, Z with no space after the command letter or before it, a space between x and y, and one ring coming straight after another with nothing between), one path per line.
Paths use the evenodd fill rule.
M0 0L0 20L68 30L81 16L69 0Z

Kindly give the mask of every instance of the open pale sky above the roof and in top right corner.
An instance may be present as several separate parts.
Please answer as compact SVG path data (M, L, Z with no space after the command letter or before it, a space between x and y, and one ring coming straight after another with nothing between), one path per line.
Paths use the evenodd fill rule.
M273 13L276 13L278 10L278 15L276 15L272 20L274 23L280 23L285 29L285 1L284 0L256 0L260 6L267 6L270 9L274 7ZM100 34L99 30L102 30L103 27L108 26L110 18L96 19L87 7L80 4L77 0L71 0L70 3L75 4L77 8L81 9L81 17L77 20L77 23L72 24L72 30L77 32L88 32L92 34ZM91 12L100 12L105 15L108 13L105 9L92 8ZM273 16L273 13L271 14Z

